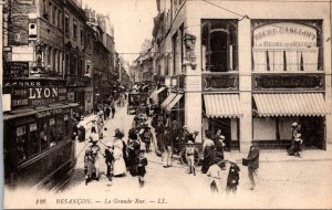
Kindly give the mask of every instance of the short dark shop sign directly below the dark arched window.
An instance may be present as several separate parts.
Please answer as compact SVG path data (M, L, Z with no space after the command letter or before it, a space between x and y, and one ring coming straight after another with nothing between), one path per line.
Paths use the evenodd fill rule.
M203 90L238 90L238 75L204 75Z

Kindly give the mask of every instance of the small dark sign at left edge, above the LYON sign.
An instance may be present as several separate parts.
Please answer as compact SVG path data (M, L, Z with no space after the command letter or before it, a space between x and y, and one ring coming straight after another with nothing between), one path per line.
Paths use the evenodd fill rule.
M29 62L7 62L3 77L28 77Z

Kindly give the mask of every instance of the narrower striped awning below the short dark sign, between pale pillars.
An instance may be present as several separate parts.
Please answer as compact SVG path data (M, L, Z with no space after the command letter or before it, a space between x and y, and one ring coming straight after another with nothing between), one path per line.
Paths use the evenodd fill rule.
M238 94L204 95L206 116L211 118L239 117L241 115Z

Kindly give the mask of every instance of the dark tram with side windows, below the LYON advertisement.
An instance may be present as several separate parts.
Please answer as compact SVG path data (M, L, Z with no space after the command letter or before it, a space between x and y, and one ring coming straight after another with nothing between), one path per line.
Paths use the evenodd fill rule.
M56 104L3 115L4 185L54 189L69 178L75 160L72 109Z

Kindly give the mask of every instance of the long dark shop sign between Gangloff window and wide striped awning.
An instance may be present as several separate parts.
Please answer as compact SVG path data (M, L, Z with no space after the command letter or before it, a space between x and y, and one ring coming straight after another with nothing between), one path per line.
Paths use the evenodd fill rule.
M252 90L324 90L323 75L255 75L252 76Z

